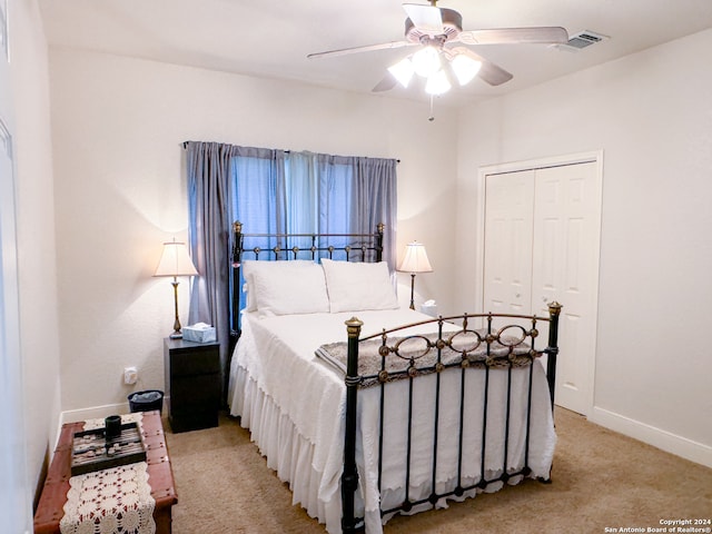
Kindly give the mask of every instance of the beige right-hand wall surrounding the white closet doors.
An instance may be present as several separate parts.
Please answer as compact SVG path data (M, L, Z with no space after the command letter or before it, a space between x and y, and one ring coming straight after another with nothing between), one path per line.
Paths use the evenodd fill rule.
M700 50L712 30L467 109L456 228L479 245L467 207L481 166L602 149L591 419L712 465L712 69ZM473 263L461 249L456 305L476 294Z

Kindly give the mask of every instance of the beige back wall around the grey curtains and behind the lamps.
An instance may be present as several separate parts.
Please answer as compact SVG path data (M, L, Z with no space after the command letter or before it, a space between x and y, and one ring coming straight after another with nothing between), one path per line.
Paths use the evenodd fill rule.
M428 105L144 60L50 53L62 409L102 415L135 389L162 388L172 289L151 278L160 244L186 236L185 140L392 157L398 253L418 239L451 298L455 120ZM405 280L406 284L408 280ZM187 283L180 286L187 320ZM122 384L136 365L139 383ZM91 409L89 409L91 408ZM95 409L96 408L96 409Z

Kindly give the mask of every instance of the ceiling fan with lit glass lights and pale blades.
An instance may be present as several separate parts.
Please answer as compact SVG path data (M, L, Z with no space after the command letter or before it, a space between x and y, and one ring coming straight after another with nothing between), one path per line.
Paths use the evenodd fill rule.
M310 53L307 58L419 47L416 52L390 66L385 78L373 90L387 91L397 83L407 87L413 76L417 75L426 80L425 91L433 96L449 90L453 81L464 86L475 76L479 76L491 86L500 86L513 78L513 75L502 67L465 46L456 46L457 43L467 46L565 43L568 40L568 33L560 27L463 30L462 16L454 9L438 8L436 1L429 0L429 6L403 4L407 14L404 40Z

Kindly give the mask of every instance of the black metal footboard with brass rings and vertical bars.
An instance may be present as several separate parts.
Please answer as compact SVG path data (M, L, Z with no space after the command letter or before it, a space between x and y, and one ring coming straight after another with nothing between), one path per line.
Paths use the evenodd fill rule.
M358 398L358 389L363 385L365 380L373 379L374 377L380 384L382 387L382 400L380 400L380 428L379 428L379 465L378 465L378 487L380 490L380 476L382 476L382 465L380 458L383 458L383 435L384 435L384 395L383 388L386 386L388 382L394 378L393 373L387 370L387 359L397 357L407 362L407 367L397 373L405 374L402 378L407 378L411 380L409 383L409 397L408 397L408 434L407 434L407 461L406 461L406 482L405 482L405 497L400 505L392 507L389 510L382 510L382 516L392 514L394 512L403 511L408 512L413 510L414 506L429 503L435 504L443 497L448 496L462 496L465 492L479 488L484 490L487 485L494 482L504 482L506 483L514 476L527 476L531 474L531 468L528 467L528 443L530 443L530 414L532 407L532 370L531 363L542 356L547 356L546 362L546 380L548 383L550 389L550 398L552 409L554 406L554 390L555 390L555 376L556 376L556 357L558 355L558 317L561 315L562 306L558 303L552 303L548 305L548 317L537 317L537 316L526 316L526 315L511 315L511 314L475 314L475 315L462 315L462 316L452 316L452 317L439 317L437 319L424 320L411 325L406 325L404 327L393 328L389 330L383 330L380 334L374 334L372 336L367 336L359 339L360 329L363 323L353 317L352 319L346 322L346 330L348 336L348 356L346 364L346 431L344 436L344 473L342 475L342 503L343 503L343 517L342 517L342 530L344 533L354 533L360 528L363 524L362 517L355 516L355 494L358 487L358 471L356 467L356 435L357 435L357 398ZM468 327L468 322L472 319L484 319L487 323L486 329L476 330L471 329ZM494 319L526 319L531 320L532 327L525 328L520 325L506 325L500 328L493 327ZM445 323L453 323L455 320L462 320L462 328L457 330L444 330L443 326ZM537 322L547 322L548 323L548 343L546 348L543 350L537 350L535 347L535 340L538 337L538 329L536 328ZM437 336L433 337L431 335L406 335L403 337L393 337L393 334L397 334L400 330L406 328L411 328L414 326L422 326L426 324L437 324L438 333ZM520 336L506 336L505 333L507 330L516 330L520 332ZM474 337L476 342L472 344L457 344L455 343L458 336L468 335ZM380 346L378 348L378 354L382 358L382 368L375 375L359 375L358 372L358 357L359 357L359 346L360 344L368 343L374 339L380 339ZM416 350L414 348L409 348L407 350L403 350L404 344L411 343L413 340L419 340L423 344L423 348L421 350ZM525 344L526 340L530 343ZM390 342L390 344L389 344ZM518 348L517 348L518 347ZM427 354L433 350L437 352L437 356L434 363L428 363L425 367L419 367L417 362L424 358ZM448 362L444 362L443 354L445 350L449 350L458 355L458 358L449 358ZM402 352L404 354L402 354ZM415 354L414 354L415 353ZM473 355L476 355L474 358ZM452 356L452 355L451 355ZM526 365L530 365L528 372L528 399L527 399L527 423L526 423L526 445L525 445L525 463L524 466L517 471L512 471L507 466L507 447L508 447L508 428L510 428L510 398L511 398L511 373L515 367L523 366L522 359L526 360ZM452 491L447 491L444 493L438 493L436 491L436 464L437 464L437 416L438 411L435 412L435 424L434 428L436 437L434 439L434 449L433 449L433 481L432 481L432 492L426 498L421 500L412 500L408 495L409 492L409 472L411 472L411 414L413 411L413 379L423 373L436 373L436 393L435 398L436 403L439 399L439 388L441 388L441 374L446 369L456 369L459 368L462 373L462 388L461 388L461 421L459 421L459 455L458 455L458 482L455 488ZM462 461L463 455L466 454L463 449L463 419L465 412L465 403L463 402L464 396L464 380L465 373L469 368L484 368L485 372L485 394L484 394L484 425L483 425L483 436L482 436L482 451L481 451L481 475L479 479L475 484L466 484L462 478ZM510 379L507 382L507 403L506 403L506 435L507 437L504 441L504 463L505 465L502 468L502 473L495 478L487 478L485 476L485 443L486 443L486 419L487 419L487 384L490 377L491 368L504 368L508 369ZM548 482L546 478L543 482Z

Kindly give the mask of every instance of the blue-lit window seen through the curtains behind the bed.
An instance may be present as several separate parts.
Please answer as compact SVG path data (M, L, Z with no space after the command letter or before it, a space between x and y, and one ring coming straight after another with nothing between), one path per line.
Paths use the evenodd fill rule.
M334 234L373 234L378 222L392 222L386 214L395 215L395 205L384 202L379 206L379 199L384 197L373 196L373 191L380 189L375 185L378 181L379 161L274 150L237 155L230 160L230 220L243 224L248 235L244 241L246 249L279 247L283 250L279 259L285 259L287 256L294 258L293 248L297 247L300 253L296 257L309 259L313 245L336 248L348 245L353 247L352 259L359 260L360 243L353 238L349 240L346 236L337 238ZM389 181L395 189L395 161L389 160L388 166L390 179L383 181ZM375 209L359 209L359 196L368 196L366 204ZM392 198L395 200L395 195ZM264 237L250 243L250 234L291 236L289 240L274 239L267 247ZM294 234L305 236L295 237ZM309 234L329 234L328 244L313 241ZM329 255L326 251L322 254ZM271 255L269 258L276 259ZM333 258L345 259L345 253L336 253ZM243 287L244 279L239 280L239 285ZM243 306L245 301L243 297Z

